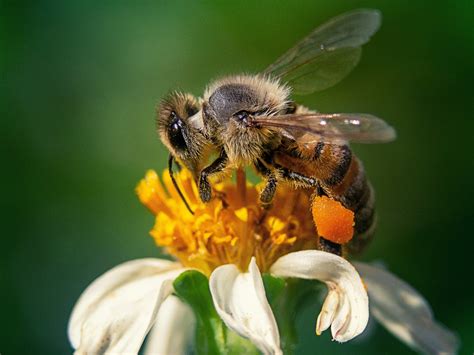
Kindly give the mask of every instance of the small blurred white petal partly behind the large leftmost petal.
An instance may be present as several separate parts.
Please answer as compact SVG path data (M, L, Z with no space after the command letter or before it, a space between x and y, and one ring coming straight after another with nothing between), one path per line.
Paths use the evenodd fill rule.
M191 307L178 297L169 296L148 335L145 355L185 354L194 338L195 323Z

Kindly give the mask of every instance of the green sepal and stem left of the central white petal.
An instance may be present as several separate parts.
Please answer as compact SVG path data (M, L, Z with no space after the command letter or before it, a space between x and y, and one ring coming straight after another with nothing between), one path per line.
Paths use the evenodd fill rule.
M189 304L196 317L195 353L258 354L255 346L228 329L212 303L209 281L199 271L183 272L173 283L176 295Z

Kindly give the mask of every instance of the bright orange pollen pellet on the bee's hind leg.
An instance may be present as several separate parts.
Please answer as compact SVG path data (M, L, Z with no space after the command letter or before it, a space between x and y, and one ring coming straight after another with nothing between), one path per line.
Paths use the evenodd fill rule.
M327 196L313 201L313 220L318 234L331 242L345 244L354 235L354 212Z

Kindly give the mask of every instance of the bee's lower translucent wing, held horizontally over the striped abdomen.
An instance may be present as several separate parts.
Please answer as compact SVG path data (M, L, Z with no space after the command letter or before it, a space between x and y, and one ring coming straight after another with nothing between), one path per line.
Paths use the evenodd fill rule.
M384 143L396 137L393 127L382 119L365 113L259 116L253 119L252 124L280 128L285 136L301 143Z

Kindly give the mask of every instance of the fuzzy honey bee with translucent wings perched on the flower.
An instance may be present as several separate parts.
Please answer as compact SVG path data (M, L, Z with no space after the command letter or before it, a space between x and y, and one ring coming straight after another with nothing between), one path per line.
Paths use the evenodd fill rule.
M351 252L362 249L375 226L374 193L348 142L388 142L395 131L369 114L309 110L292 101L290 93L309 94L342 80L359 61L361 46L380 21L376 10L340 15L316 28L261 74L217 80L202 101L177 94L189 101L175 100L174 108L169 100L161 105L161 138L170 157L191 169L204 202L212 197L210 176L253 166L266 180L260 195L263 206L271 204L281 182L311 188L315 195L328 196L354 212L355 235L347 247ZM196 112L183 109L189 102L199 102L200 109L197 105ZM171 132L176 117L182 122L179 140ZM178 141L184 150L178 149ZM211 152L218 157L204 167ZM340 254L340 245L320 240L322 249Z

